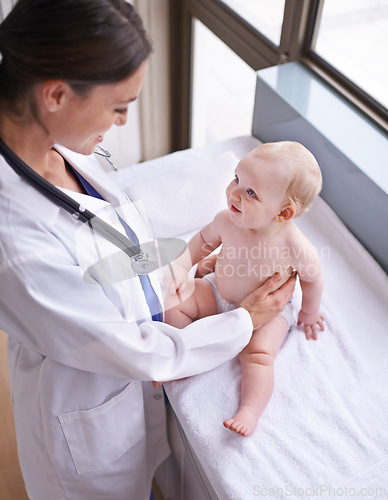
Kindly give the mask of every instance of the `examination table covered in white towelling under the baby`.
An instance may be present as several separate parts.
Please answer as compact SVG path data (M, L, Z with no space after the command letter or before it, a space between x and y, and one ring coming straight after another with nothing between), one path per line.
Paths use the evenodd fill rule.
M257 144L233 138L112 175L155 237L188 239L226 207L236 163ZM248 438L222 425L239 404L237 359L165 385L173 456L158 483L168 499L388 497L387 276L322 198L295 222L321 257L325 331L317 342L300 327L288 334Z

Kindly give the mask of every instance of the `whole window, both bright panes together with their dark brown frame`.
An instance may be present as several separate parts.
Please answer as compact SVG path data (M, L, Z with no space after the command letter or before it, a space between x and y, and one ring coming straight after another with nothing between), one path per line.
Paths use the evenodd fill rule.
M222 128L232 130L240 120L232 108L225 114L230 102L222 97L221 87L214 100L205 101L207 90L200 80L211 76L198 61L205 60L210 51L221 51L216 45L226 45L236 61L245 62L240 64L244 69L235 70L233 85L238 79L242 87L248 82L246 66L256 71L300 61L387 133L388 0L170 0L170 29L173 150L186 148L192 141L217 140L210 128L199 138L199 102L206 102L207 124L218 113L217 102L224 113ZM206 29L213 37L204 34ZM203 37L209 43L201 42ZM226 54L227 49L221 52ZM217 77L221 59L213 56L213 61L213 80L226 80L229 63L217 69L221 75ZM198 85L202 85L202 97ZM243 122L246 108L238 107Z

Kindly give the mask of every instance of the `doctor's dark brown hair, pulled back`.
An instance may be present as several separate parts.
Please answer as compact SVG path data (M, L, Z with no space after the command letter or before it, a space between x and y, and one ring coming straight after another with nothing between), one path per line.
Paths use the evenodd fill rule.
M125 0L19 0L0 25L0 106L33 112L31 91L47 80L86 95L130 76L151 51Z

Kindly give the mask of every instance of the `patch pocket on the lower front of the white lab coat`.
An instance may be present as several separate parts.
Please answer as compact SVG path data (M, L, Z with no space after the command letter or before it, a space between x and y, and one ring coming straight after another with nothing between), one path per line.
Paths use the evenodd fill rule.
M78 474L107 466L144 436L139 390L131 382L101 406L58 416Z

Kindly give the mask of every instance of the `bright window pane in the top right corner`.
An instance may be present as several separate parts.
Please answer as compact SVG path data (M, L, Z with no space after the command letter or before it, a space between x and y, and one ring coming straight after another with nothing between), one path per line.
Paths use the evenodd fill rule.
M325 0L312 49L388 107L388 0Z

